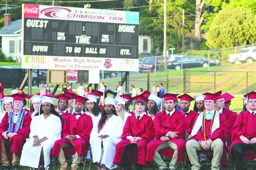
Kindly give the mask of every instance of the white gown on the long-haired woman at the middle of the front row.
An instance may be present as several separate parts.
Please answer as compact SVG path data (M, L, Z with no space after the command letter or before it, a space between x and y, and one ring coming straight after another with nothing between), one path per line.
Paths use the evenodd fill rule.
M98 126L93 127L90 135L90 145L92 149L93 162L104 164L107 168L117 168L116 164L113 164L114 154L116 153L116 145L121 141L123 133L123 120L116 116L106 121L102 130L98 133ZM109 135L105 139L100 139L100 135ZM103 143L103 155L102 155L102 143ZM102 160L100 161L100 158Z

